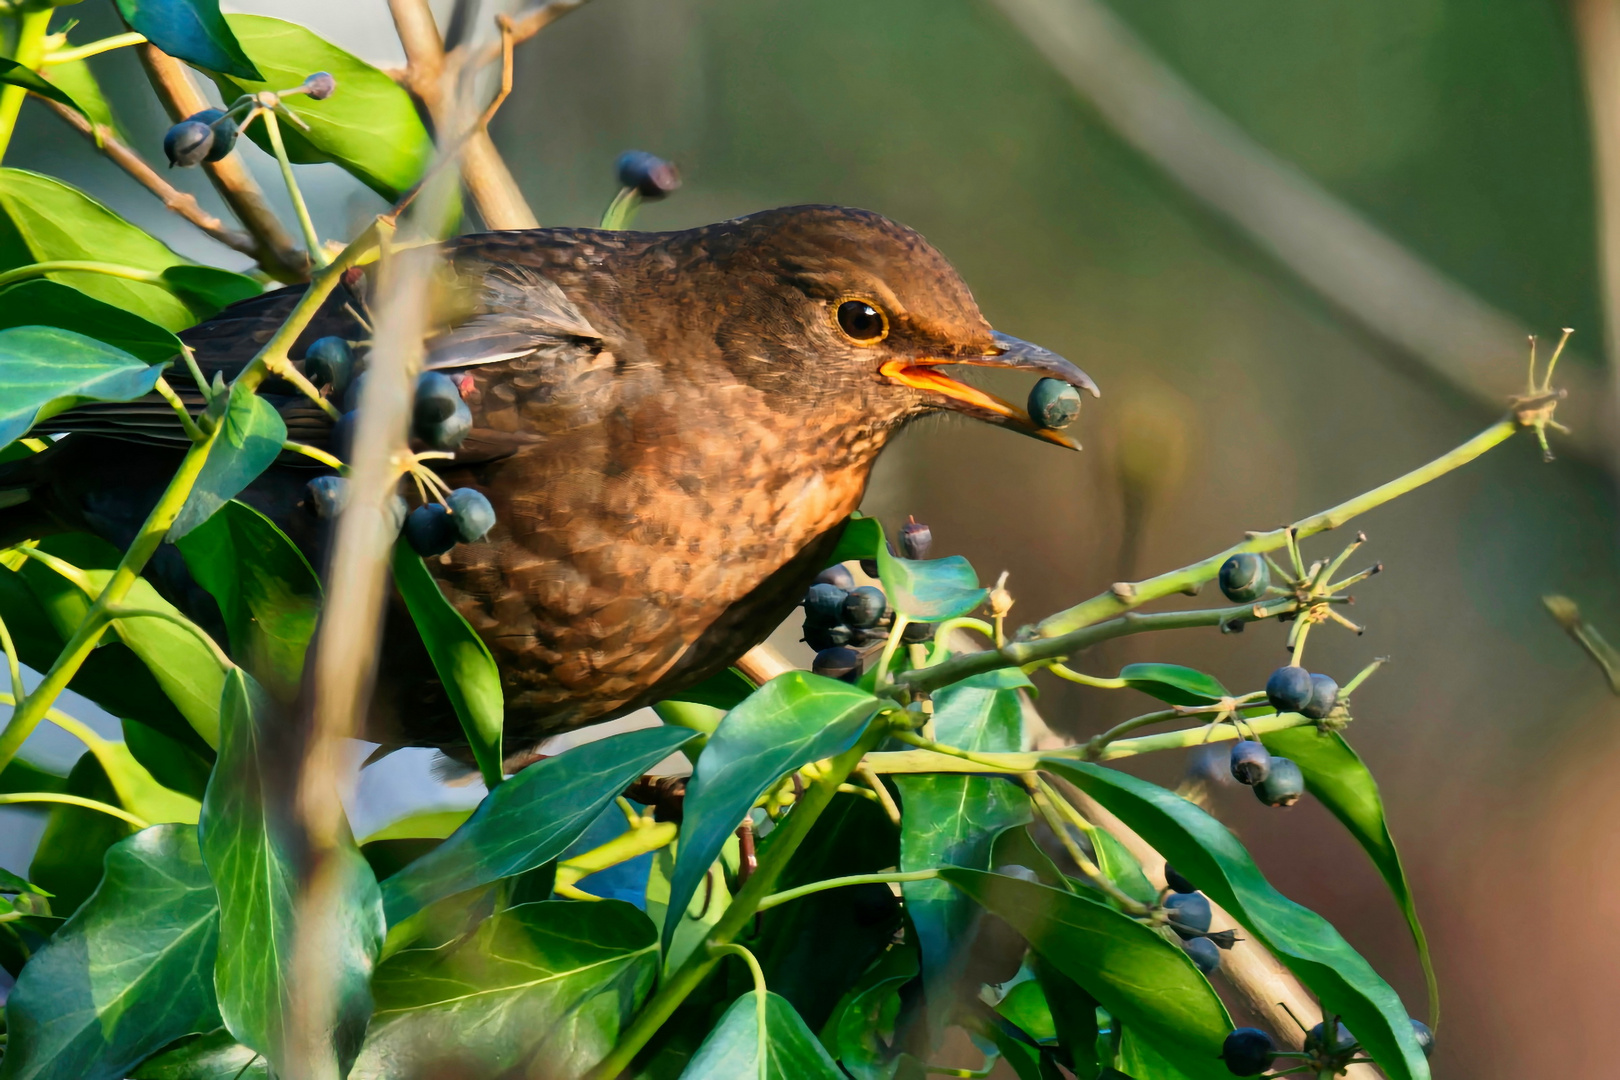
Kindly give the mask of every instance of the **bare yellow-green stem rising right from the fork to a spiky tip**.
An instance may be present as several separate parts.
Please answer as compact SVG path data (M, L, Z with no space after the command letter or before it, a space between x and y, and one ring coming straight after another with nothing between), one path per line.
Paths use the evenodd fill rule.
M1307 536L1315 536L1317 533L1335 529L1356 515L1366 513L1374 507L1382 507L1392 499L1416 491L1429 481L1445 476L1455 468L1468 465L1492 447L1507 442L1521 426L1523 424L1515 416L1502 419L1450 453L1442 453L1434 461L1429 461L1405 476L1398 476L1387 484L1374 487L1372 491L1356 495L1348 502L1341 502L1336 507L1324 510L1322 513L1301 518L1291 526L1293 536L1298 541ZM1254 533L1244 542L1228 547L1218 555L1212 555L1202 562L1194 562L1181 570L1171 570L1170 573L1147 578L1145 581L1119 583L1110 591L1094 596L1082 604L1076 604L1074 607L1068 607L1055 615L1048 615L1035 627L1035 633L1042 638L1053 638L1079 630L1081 627L1090 627L1103 619L1131 610L1132 607L1139 607L1149 601L1157 601L1165 596L1173 596L1184 589L1200 586L1218 575L1220 565L1233 555L1239 555L1243 552L1277 551L1278 547L1286 547L1288 542L1288 528L1272 529L1270 533Z

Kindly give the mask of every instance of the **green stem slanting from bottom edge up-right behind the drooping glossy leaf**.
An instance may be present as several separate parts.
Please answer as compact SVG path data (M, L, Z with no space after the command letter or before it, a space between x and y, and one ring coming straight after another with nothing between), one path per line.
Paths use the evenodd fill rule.
M833 801L838 785L844 782L860 759L881 743L888 733L889 725L881 717L873 719L860 740L833 758L815 784L810 785L810 790L794 801L792 811L776 826L776 839L771 840L770 853L760 860L760 868L753 871L748 882L742 886L731 905L719 916L719 921L710 929L705 942L706 947L695 949L687 957L687 962L664 981L653 999L646 1002L646 1007L642 1009L640 1015L637 1015L635 1022L619 1036L619 1043L612 1051L586 1074L585 1080L612 1080L630 1067L637 1052L646 1046L648 1040L658 1033L658 1028L674 1015L680 1002L703 983L719 962L719 957L713 955L713 949L731 944L739 933L753 923L753 913L758 910L760 902L771 894L776 881L787 868L787 860L799 850L816 818Z

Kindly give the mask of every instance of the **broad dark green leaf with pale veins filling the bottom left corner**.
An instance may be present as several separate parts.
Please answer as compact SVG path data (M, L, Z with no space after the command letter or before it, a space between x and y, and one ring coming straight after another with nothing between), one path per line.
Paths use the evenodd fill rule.
M219 1027L214 884L196 829L162 824L107 852L107 876L6 1002L6 1080L122 1080L181 1035Z

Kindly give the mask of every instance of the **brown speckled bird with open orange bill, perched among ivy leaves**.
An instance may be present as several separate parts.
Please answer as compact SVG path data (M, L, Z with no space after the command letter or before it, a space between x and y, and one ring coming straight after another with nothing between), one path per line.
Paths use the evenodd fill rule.
M483 233L444 253L462 303L426 364L460 377L475 426L436 465L452 487L483 491L497 525L428 567L501 667L509 753L654 703L760 643L826 565L906 423L949 410L1074 445L941 366L1016 368L1097 393L1074 364L991 330L944 256L865 210L791 207L674 233ZM300 291L238 303L181 337L209 377L228 379ZM358 309L339 290L293 356L322 335L364 338ZM264 393L292 439L327 444L326 416L292 387ZM78 434L0 478L28 489L3 531L128 544L178 460L173 413L151 398L52 423ZM305 499L314 474L284 455L241 497L321 565ZM178 559L151 573L183 607L206 607ZM431 672L395 610L368 737L465 758Z

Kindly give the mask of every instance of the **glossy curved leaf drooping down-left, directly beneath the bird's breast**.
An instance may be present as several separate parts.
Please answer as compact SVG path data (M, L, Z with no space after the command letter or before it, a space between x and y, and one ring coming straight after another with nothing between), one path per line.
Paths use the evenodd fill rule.
M666 949L705 874L755 800L799 766L855 745L880 706L849 683L786 672L726 714L687 785L664 916Z

